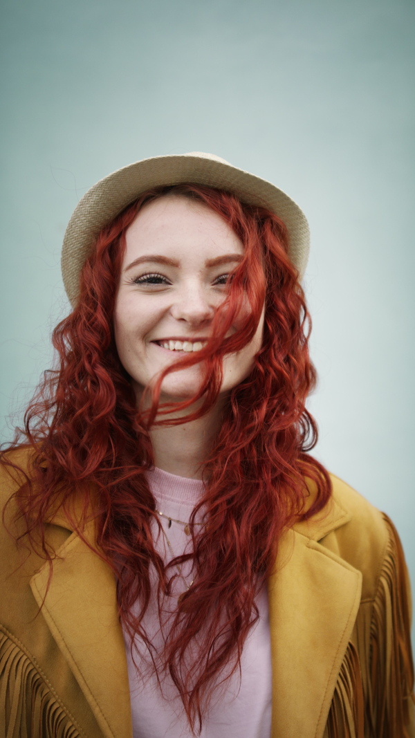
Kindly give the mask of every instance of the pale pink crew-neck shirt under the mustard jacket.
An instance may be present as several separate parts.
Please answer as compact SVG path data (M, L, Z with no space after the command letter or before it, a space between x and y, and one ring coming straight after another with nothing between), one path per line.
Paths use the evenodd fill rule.
M177 477L161 469L148 472L148 483L156 499L157 509L176 520L189 520L203 492L202 481ZM185 549L188 550L191 539L185 534L184 525L171 523L168 528L167 518L161 517L160 521L165 534L156 540L156 548L167 563L173 558L171 549L174 556L179 556ZM156 534L157 528L154 525L154 535ZM182 566L182 576L186 584L190 585L191 562ZM183 579L176 579L175 596L166 599L166 621L168 613L176 604L176 597L186 589ZM202 726L202 738L270 738L272 670L266 590L258 596L257 605L259 620L244 644L241 678L236 672L227 682L225 690L213 701ZM161 649L162 633L157 604L154 601L145 613L143 625L151 635L151 642L157 652ZM136 652L134 658L139 664L140 674L131 659L127 637L125 641L134 738L191 738L182 702L177 697L170 677L163 679L160 689L148 653L136 638L138 655Z

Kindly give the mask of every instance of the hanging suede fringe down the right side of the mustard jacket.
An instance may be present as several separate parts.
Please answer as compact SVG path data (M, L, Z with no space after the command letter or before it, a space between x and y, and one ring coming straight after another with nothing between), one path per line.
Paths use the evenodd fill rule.
M356 647L346 650L324 738L414 736L409 582L397 531L383 517L388 544L377 593L357 615Z

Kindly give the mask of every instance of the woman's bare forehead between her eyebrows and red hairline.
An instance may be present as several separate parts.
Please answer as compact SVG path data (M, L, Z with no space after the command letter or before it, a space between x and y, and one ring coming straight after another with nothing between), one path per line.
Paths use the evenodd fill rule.
M151 201L126 231L126 258L145 252L179 258L243 253L244 246L224 219L207 205L180 196Z

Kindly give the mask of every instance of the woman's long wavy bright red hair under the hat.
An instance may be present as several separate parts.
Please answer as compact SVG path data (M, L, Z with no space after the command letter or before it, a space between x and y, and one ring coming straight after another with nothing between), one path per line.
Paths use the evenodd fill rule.
M210 341L179 362L202 362L205 367L198 395L179 406L160 405L162 379L177 370L168 368L148 390L151 407L137 410L114 344L114 301L126 229L141 207L171 193L219 213L244 244L244 258L216 311ZM329 475L308 453L317 440L315 421L305 407L315 369L309 359L309 314L287 251L287 229L276 215L241 204L222 190L186 184L140 196L97 236L83 266L78 305L53 332L57 368L44 374L24 430L16 432L2 456L4 463L16 466L10 450L22 445L32 449L30 475L15 497L30 545L36 545L35 531L40 531L42 554L49 562L48 514L64 506L82 537L88 515L94 515L98 555L117 578L120 620L131 635L131 647L139 634L151 650L142 625L152 594L150 567L157 573L160 604L177 576L175 565L190 556L165 567L154 549L151 523L160 523L145 477L154 463L149 428L182 423L213 407L222 357L253 337L265 301L261 351L247 379L230 392L205 459L205 495L192 520L203 511L207 525L193 527L194 583L177 606L159 667L159 673L170 673L195 733L216 684L240 666L244 641L258 618L255 596L270 576L281 534L298 517L320 510L331 494ZM227 337L246 298L250 311ZM169 414L178 407L192 412L173 421ZM306 479L312 480L315 495L304 512ZM83 500L78 519L69 505L75 495ZM133 613L137 601L140 607ZM189 665L196 634L199 650Z

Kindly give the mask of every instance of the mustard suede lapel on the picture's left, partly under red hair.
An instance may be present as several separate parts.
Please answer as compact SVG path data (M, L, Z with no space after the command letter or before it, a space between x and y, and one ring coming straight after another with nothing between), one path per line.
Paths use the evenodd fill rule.
M57 521L54 521L57 522ZM67 527L67 524L66 524ZM93 526L86 529L93 540ZM131 738L131 706L123 632L112 570L72 534L30 586L61 652L106 738Z

